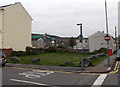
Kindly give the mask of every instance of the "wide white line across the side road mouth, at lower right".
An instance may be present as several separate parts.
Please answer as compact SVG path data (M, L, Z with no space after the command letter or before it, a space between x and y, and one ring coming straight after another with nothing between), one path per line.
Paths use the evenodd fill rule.
M102 83L104 82L105 78L106 78L107 74L101 74L96 81L93 83L93 85L91 87L101 87Z

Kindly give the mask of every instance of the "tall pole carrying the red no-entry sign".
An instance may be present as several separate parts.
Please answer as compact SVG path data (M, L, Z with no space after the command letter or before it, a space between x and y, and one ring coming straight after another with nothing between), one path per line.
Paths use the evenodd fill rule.
M108 17L107 17L107 2L105 0L105 17L106 17L106 36L109 36L108 34ZM109 56L109 40L107 41L107 55L108 55L108 66L110 67L110 56Z

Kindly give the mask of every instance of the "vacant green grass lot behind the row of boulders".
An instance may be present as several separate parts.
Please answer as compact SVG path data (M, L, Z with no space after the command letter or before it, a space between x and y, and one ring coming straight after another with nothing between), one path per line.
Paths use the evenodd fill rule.
M89 57L89 54L85 54L84 57ZM71 60L73 62L72 65L67 66L80 66L79 62L82 59L81 54L77 53L42 53L39 55L31 55L31 56L21 56L20 62L14 63L22 63L22 64L36 64L36 65L50 65L50 66L65 66L64 62L66 60ZM32 58L40 58L40 62L33 63ZM99 64L103 61L106 57L97 58L93 61L93 66ZM9 63L13 63L10 58L8 58Z

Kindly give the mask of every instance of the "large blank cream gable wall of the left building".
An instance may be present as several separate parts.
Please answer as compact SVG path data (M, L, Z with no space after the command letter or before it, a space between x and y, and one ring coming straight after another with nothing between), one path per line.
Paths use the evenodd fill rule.
M32 18L21 3L0 7L0 48L25 51L31 45Z

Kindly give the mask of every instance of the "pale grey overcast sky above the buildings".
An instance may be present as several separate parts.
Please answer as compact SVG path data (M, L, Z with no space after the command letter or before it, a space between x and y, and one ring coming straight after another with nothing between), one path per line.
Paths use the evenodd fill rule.
M0 5L21 2L33 18L32 32L58 36L78 36L77 23L85 37L105 31L104 0L0 0ZM107 0L109 33L118 26L119 0Z

